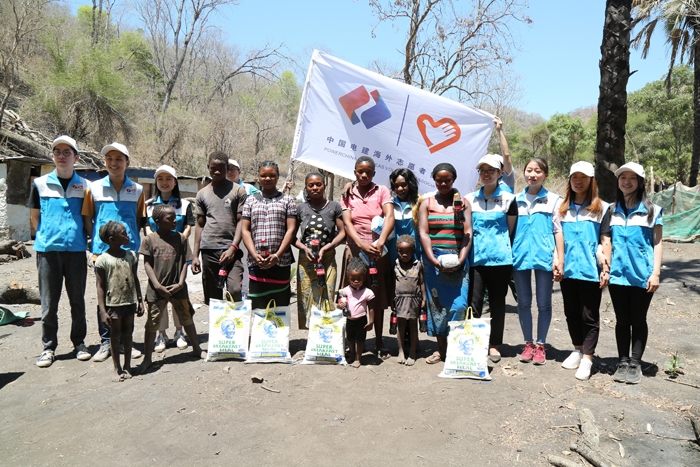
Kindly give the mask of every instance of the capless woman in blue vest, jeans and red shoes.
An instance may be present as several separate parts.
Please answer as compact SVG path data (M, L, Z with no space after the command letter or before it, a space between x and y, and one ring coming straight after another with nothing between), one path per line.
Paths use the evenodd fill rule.
M518 291L518 316L523 330L525 348L520 361L535 365L546 363L544 344L552 321L553 270L560 271L559 256L564 256L564 235L561 218L554 222L559 207L559 195L547 191L543 184L549 176L547 161L534 157L524 170L527 188L518 194L518 223L513 239L513 279ZM555 245L556 239L556 245ZM537 294L537 345L532 337L532 273L535 274Z

